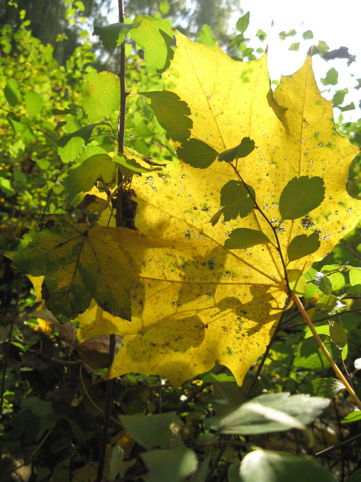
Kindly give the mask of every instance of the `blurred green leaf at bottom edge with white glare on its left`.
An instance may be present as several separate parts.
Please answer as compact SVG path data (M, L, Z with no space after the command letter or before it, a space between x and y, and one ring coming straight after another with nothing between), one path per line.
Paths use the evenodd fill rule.
M307 456L255 450L241 463L240 482L336 482L331 472Z

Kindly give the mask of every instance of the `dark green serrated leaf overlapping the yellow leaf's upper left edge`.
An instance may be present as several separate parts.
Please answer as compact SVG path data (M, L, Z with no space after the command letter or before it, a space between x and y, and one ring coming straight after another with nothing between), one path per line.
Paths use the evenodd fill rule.
M188 116L191 109L177 94L167 91L141 92L160 126L166 131L166 138L175 142L189 139L193 121Z

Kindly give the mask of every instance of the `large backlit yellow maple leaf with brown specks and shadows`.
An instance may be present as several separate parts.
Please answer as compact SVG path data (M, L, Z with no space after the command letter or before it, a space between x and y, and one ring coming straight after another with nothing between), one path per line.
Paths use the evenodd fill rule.
M287 246L296 235L320 234L317 252L287 266L307 270L358 223L360 206L345 190L358 149L335 131L331 103L320 95L311 57L293 76L282 78L273 98L266 55L235 62L218 45L209 48L178 32L176 38L164 88L191 108L191 139L217 152L237 146L245 136L254 139L256 149L238 162L238 170L273 224L281 220L278 201L292 178L323 177L322 204L278 229L286 263ZM180 148L171 142L182 157L187 144ZM114 232L140 275L131 322L98 312L94 335L109 333L108 323L126 335L107 376L160 374L178 385L217 361L240 384L264 352L284 308L284 269L274 233L259 212L215 227L209 223L219 210L220 189L231 179L237 179L232 166L218 161L205 170L181 163L133 179L139 231ZM224 241L234 228L260 229L271 243L226 250ZM94 317L91 310L81 317L84 335Z

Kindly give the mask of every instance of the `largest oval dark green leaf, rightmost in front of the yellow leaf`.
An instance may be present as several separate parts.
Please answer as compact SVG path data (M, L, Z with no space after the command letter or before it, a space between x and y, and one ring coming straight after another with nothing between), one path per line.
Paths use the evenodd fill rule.
M279 210L282 220L298 219L316 209L324 199L323 179L318 176L294 177L280 196Z

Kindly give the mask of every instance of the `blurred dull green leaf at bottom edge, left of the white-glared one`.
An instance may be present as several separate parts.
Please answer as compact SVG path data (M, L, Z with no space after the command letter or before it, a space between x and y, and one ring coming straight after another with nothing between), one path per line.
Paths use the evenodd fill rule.
M197 468L195 453L184 445L144 452L141 458L148 469L144 482L183 482Z

